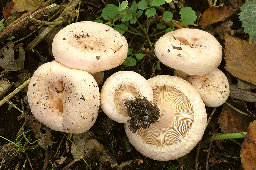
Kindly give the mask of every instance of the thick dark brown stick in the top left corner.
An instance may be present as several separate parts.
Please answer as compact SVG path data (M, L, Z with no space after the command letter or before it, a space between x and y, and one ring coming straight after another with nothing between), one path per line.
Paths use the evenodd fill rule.
M48 15L49 12L55 10L56 8L58 8L58 5L56 4L44 6L43 8L40 8L39 10L30 14L29 16L33 16L34 18L39 19L42 18L43 16ZM28 28L29 26L33 25L33 23L29 20L29 16L26 16L25 18L20 19L14 24L2 29L2 31L0 31L0 42L13 36L14 32L18 33L22 31L24 28Z

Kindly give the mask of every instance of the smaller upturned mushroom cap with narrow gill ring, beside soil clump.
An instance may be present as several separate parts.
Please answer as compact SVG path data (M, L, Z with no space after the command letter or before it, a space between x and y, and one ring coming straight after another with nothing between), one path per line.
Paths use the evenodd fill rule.
M125 123L129 116L121 100L139 95L149 101L153 100L153 91L148 81L133 71L116 72L102 86L101 109L114 121Z

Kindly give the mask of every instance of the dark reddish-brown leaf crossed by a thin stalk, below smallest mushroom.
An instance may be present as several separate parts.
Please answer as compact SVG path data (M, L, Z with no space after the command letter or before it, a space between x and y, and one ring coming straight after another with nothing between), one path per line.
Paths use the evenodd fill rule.
M246 104L244 102L235 102L229 100L228 103L241 110L242 112L251 115L251 113L247 110ZM242 113L239 113L224 103L218 122L220 123L220 128L223 133L235 133L238 132L235 128L242 132L246 132L249 124L253 120L254 119L252 116L246 116Z

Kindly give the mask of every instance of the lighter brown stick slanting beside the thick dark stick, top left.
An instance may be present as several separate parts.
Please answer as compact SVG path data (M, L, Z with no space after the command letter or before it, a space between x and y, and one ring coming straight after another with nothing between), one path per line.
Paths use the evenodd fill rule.
M58 21L67 21L69 17L73 17L73 14L76 13L74 8L81 2L81 0L73 0L67 8L60 14L60 16L55 20ZM62 18L62 19L61 19ZM49 25L44 31L42 31L33 41L29 43L25 51L31 51L33 48L46 37L46 35L53 30L57 25Z

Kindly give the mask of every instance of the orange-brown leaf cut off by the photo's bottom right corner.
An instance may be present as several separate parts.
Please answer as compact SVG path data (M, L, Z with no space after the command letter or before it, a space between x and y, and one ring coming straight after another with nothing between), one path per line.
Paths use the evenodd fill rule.
M241 162L244 170L256 169L256 121L249 125L244 142L241 146Z

